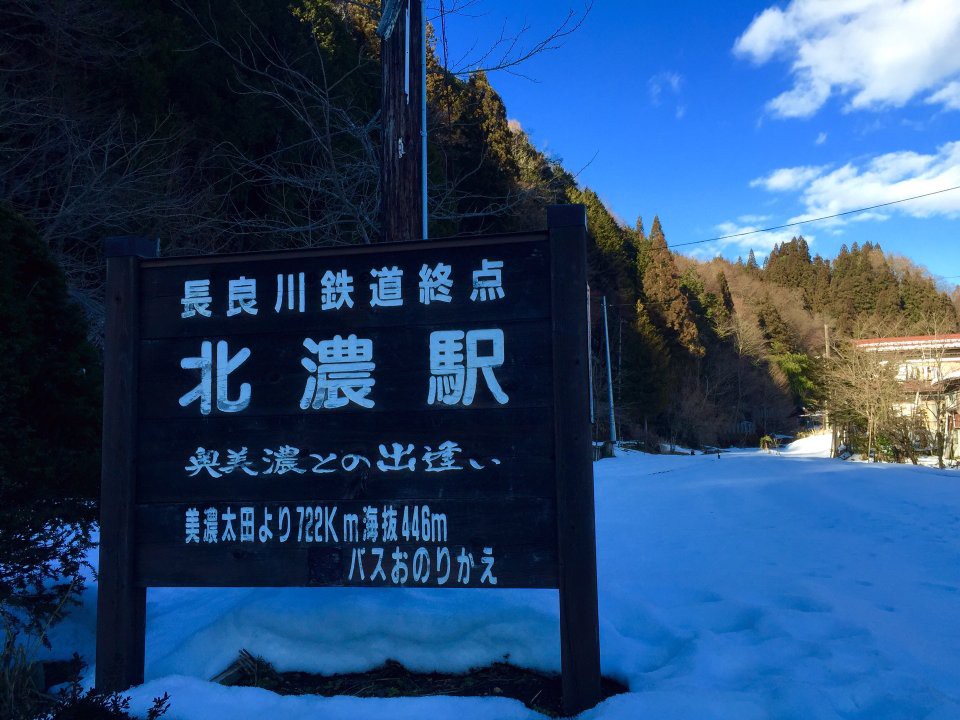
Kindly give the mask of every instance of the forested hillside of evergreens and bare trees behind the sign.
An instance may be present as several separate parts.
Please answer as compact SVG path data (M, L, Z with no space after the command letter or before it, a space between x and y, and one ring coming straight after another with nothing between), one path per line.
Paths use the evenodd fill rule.
M159 237L165 254L384 239L376 20L337 0L3 4L0 198L59 261L94 340L107 235ZM927 273L869 242L821 258L796 238L763 266L673 254L669 218L618 222L431 39L431 235L587 207L598 437L602 297L620 434L701 446L789 431L815 408L825 328L834 342L957 329Z

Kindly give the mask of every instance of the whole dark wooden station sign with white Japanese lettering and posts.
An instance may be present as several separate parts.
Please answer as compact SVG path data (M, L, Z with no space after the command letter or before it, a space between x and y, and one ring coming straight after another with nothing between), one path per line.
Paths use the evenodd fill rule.
M586 221L188 258L107 247L97 687L146 588L558 588L600 698Z

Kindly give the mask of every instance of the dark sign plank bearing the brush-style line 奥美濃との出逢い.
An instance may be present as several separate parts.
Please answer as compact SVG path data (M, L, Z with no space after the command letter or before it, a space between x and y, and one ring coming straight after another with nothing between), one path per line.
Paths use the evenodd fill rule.
M444 422L446 418L453 422ZM556 495L549 409L411 412L391 416L387 425L382 420L361 415L340 423L304 415L141 421L139 498L215 500L235 491L253 500L268 500L277 491L288 498L412 497L423 488L451 498ZM457 443L460 452L452 457L460 469L428 471L439 464L427 453L437 452L445 441ZM401 446L396 459L402 462L388 457L395 452L394 443ZM276 472L265 450L276 453L282 445L297 449L296 467L302 473ZM191 461L200 447L217 453L211 469L196 468ZM229 462L230 451L243 448L247 470ZM386 469L397 465L404 469ZM225 467L234 469L224 473Z

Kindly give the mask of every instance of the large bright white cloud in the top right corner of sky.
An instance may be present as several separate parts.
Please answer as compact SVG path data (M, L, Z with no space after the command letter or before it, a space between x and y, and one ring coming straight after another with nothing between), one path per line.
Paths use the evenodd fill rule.
M848 110L900 107L917 96L960 110L957 0L791 0L737 38L757 64L784 58L793 87L770 100L781 117L809 117L833 94Z

